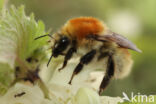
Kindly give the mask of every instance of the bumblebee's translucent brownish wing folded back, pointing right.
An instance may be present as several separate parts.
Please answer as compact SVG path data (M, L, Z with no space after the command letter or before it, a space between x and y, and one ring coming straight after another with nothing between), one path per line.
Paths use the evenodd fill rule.
M116 34L112 32L110 35L98 35L96 38L98 41L111 41L118 44L120 47L128 48L137 52L142 52L140 49L137 48L135 44L133 44L131 41L129 41L124 36L121 36L119 34Z

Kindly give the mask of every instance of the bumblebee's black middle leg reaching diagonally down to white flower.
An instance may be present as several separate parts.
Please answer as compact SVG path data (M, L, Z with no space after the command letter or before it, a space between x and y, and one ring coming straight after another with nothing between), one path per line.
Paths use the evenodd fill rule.
M81 57L79 64L74 69L74 72L73 72L72 77L69 81L69 84L71 84L74 76L77 75L82 70L83 65L87 65L89 62L92 61L95 54L96 54L96 50L91 50L90 52L88 52L87 54L85 54L84 56Z

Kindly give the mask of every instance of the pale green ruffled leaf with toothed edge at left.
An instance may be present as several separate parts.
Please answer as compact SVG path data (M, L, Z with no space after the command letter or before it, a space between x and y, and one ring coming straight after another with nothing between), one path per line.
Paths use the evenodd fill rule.
M0 84L8 86L13 79L16 65L25 63L25 60L34 52L41 50L47 38L34 40L44 35L45 25L42 21L35 21L34 15L26 16L24 6L16 9L12 6L2 12L0 17ZM37 52L43 56L43 52ZM41 54L41 55L40 55ZM7 73L7 77L5 75ZM9 74L10 73L10 74ZM1 92L1 91L0 91Z

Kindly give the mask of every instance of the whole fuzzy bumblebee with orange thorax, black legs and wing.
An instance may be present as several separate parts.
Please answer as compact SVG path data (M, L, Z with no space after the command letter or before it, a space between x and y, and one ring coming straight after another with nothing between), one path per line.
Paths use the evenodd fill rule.
M64 55L60 71L66 67L71 58L74 58L74 54L80 57L69 84L86 65L94 64L95 67L105 70L99 94L104 91L113 77L122 78L129 73L133 61L128 49L141 52L127 38L110 31L102 21L93 17L70 19L57 33L44 36L49 36L54 40L52 55L47 66L52 57Z

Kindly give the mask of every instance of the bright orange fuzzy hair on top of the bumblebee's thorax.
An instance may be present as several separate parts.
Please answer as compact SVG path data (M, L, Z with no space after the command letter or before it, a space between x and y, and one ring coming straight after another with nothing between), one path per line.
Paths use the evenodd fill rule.
M86 35L98 35L104 29L104 24L96 18L79 17L69 20L62 28L62 32L72 38L82 40Z

